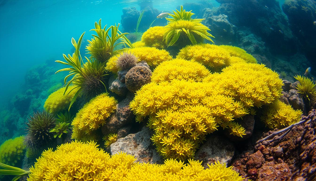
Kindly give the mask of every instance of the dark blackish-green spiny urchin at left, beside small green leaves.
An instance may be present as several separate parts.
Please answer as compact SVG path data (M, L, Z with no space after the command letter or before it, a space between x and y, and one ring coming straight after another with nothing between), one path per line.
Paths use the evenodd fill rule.
M53 114L43 112L34 112L30 116L27 124L27 135L24 138L24 144L28 148L36 148L46 145L53 138L53 134L49 133L51 128L55 127L55 117Z

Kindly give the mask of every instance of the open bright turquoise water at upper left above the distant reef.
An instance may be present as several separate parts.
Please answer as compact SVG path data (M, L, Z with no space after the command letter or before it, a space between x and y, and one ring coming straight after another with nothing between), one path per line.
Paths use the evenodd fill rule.
M186 2L194 1L158 0L153 6L170 11ZM140 10L137 0L0 1L0 106L5 107L16 94L29 68L46 60L62 60L63 53L71 53L71 37L78 39L86 31L85 38L90 39L88 31L100 18L103 25L120 23L125 7Z

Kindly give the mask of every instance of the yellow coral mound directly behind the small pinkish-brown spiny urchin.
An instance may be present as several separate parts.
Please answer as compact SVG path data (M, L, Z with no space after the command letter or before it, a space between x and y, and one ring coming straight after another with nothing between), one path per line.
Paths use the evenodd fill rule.
M154 47L132 48L132 49L125 50L124 52L135 55L136 57L138 57L139 61L146 61L147 64L151 68L155 68L157 65L159 65L163 61L168 61L172 59L172 57L169 55L169 53L166 50L159 50ZM117 73L118 72L118 69L116 67L117 60L118 60L117 56L111 57L109 61L106 63L106 69L113 73Z

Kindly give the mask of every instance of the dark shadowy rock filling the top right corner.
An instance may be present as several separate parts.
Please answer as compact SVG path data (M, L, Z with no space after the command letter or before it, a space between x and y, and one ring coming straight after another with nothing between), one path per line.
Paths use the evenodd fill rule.
M297 36L300 49L310 60L314 60L316 49L316 1L287 0L282 5L284 13L289 18L289 27Z

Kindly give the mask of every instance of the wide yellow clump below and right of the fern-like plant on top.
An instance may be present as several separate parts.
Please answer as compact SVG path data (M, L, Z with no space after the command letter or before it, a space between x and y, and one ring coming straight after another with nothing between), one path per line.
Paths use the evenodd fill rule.
M252 55L247 54L246 51L241 48L228 45L218 46L212 44L186 46L180 50L177 58L197 61L210 68L223 68L225 66L240 62L257 62Z

